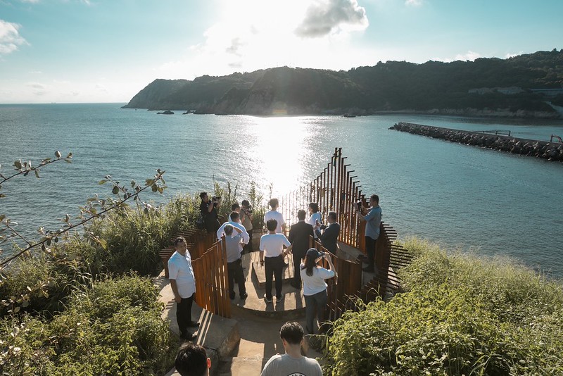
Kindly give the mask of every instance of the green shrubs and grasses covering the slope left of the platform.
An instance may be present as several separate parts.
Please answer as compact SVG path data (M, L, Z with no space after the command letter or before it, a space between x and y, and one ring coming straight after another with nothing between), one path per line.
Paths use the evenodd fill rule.
M34 175L30 163L14 168L10 179ZM80 208L80 227L67 217L62 229L42 230L39 241L14 244L0 259L0 375L163 375L172 368L178 339L161 318L152 277L163 268L158 251L194 227L199 197L153 206L138 199L144 188L137 183L129 190L109 176L100 182L108 183L108 199L94 196ZM165 185L149 179L144 187L162 192ZM215 194L224 215L236 187L215 184ZM260 216L255 184L249 198ZM5 214L1 225L4 244L20 237Z

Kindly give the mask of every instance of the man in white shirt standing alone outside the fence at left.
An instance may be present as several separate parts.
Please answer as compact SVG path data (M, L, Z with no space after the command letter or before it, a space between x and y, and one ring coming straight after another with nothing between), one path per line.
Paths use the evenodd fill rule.
M170 286L176 301L176 320L180 330L180 338L196 339L196 334L188 331L189 327L199 327L199 322L191 320L191 306L196 294L196 277L191 267L191 255L184 237L177 237L174 241L176 251L168 260Z

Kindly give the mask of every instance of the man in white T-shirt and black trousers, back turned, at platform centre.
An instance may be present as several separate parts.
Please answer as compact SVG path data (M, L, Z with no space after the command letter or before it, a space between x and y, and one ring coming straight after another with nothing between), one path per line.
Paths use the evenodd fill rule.
M272 277L276 278L276 301L284 300L281 295L281 275L284 270L284 256L291 252L291 243L284 234L277 234L277 221L268 220L266 223L268 233L260 238L260 265L264 266L266 273L266 303L272 302ZM284 251L284 246L286 250Z

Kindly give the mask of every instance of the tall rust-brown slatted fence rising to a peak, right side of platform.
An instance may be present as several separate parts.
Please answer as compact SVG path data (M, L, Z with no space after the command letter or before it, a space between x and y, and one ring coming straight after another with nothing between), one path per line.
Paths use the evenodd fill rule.
M366 205L365 194L362 193L357 175L349 169L346 157L342 156L341 148L334 149L331 161L327 163L322 173L305 187L296 189L281 197L281 211L289 225L296 223L296 213L299 209L307 209L308 204L319 204L323 215L323 222L327 222L327 214L334 211L341 225L339 241L365 251L365 222L361 222L356 211L356 203L362 201ZM376 296L392 296L400 289L400 280L396 274L399 268L410 263L410 253L395 243L397 233L393 227L381 222L379 239L377 239L375 266L377 275L362 285L362 263L360 260L348 260L339 255L331 254L334 268L339 275L336 282L331 280L327 318L336 320L346 310L358 310L355 299L372 301ZM311 246L323 249L319 242L311 238Z

